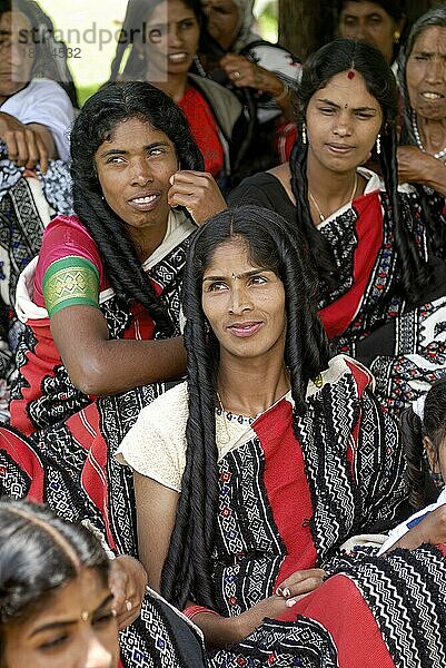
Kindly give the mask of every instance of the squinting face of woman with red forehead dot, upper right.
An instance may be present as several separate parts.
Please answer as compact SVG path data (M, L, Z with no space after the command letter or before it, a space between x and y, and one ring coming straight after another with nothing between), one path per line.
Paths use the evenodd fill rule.
M310 98L306 124L308 159L334 171L348 171L367 160L383 111L359 72L340 72Z

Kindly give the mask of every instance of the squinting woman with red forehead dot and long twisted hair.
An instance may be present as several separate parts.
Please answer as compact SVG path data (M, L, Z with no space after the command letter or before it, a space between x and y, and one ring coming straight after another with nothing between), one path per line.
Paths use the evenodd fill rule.
M274 209L303 233L329 338L399 410L445 374L446 282L416 191L397 188L395 77L378 49L339 39L306 62L298 101L289 163L246 179L229 202ZM361 167L374 145L384 181Z

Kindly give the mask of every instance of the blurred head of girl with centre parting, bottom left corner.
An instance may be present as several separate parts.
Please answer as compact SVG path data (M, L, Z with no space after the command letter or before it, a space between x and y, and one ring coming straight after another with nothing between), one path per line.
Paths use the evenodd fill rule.
M0 666L121 667L110 563L83 527L1 501Z

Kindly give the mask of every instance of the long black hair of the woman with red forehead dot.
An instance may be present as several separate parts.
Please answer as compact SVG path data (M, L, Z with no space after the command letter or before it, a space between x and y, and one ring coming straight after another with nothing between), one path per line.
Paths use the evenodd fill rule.
M326 289L331 292L338 285L339 276L331 246L315 227L310 215L306 169L308 143L303 141L303 126L308 104L315 92L325 88L336 75L350 70L361 75L368 92L377 100L383 112L383 126L379 129L381 143L379 159L387 210L395 232L404 296L409 302L416 303L429 281L429 272L406 224L407 212L404 212L399 205L396 161L398 92L395 76L385 57L369 43L344 38L336 39L313 53L304 65L297 90L297 139L289 159L297 225L311 249L323 286L325 285Z

